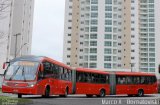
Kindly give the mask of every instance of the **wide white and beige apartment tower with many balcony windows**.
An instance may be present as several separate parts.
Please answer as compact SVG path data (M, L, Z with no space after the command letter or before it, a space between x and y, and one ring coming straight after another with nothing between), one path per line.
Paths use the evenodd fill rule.
M159 0L66 0L64 63L158 76L159 5Z

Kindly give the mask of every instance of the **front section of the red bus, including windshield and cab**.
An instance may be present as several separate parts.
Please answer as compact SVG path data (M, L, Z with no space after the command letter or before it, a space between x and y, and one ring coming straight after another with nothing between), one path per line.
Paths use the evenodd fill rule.
M47 57L25 56L9 62L2 92L22 95L66 96L72 93L71 68Z

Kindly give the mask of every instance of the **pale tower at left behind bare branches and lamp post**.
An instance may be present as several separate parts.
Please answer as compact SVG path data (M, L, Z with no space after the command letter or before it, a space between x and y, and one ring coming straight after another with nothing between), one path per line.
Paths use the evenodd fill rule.
M0 0L0 73L2 64L31 53L34 0Z

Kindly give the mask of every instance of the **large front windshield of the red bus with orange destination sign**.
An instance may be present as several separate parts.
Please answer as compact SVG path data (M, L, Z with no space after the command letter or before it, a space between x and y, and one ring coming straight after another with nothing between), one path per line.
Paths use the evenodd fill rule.
M11 63L5 73L6 80L35 80L38 62L16 61Z

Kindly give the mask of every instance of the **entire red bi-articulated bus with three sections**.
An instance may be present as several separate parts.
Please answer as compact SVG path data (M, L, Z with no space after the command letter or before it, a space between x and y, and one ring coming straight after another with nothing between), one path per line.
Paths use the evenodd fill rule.
M4 73L2 92L22 95L96 95L129 96L158 93L154 74L140 72L105 72L70 68L47 57L24 56L11 60Z

